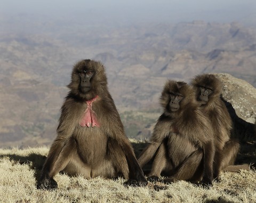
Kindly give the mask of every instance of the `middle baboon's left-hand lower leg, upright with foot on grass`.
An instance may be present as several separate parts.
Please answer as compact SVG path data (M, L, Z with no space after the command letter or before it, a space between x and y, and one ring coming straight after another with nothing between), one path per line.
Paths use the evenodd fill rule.
M161 173L164 169L171 170L173 167L170 161L167 160L166 157L166 148L162 143L158 150L156 151L156 155L152 164L151 172L147 178L148 181L160 181Z

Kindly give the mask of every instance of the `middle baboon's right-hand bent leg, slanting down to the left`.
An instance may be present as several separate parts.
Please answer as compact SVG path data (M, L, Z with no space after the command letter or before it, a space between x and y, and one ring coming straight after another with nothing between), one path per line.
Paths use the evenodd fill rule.
M200 181L203 175L203 151L196 150L187 157L175 170L173 176L164 179L164 183L171 183L177 180Z

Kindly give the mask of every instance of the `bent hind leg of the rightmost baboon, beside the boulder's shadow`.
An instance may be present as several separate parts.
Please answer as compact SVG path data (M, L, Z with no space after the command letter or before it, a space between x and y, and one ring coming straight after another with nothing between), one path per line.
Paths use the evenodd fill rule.
M234 165L239 149L240 144L237 140L229 140L225 143L221 169Z

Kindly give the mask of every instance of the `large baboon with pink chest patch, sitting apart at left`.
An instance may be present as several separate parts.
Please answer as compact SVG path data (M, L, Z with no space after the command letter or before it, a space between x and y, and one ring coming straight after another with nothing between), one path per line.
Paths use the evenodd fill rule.
M42 169L37 188L54 189L60 171L85 178L129 179L125 185L147 185L131 143L108 92L100 62L81 60L71 74L70 92L61 108L57 137Z

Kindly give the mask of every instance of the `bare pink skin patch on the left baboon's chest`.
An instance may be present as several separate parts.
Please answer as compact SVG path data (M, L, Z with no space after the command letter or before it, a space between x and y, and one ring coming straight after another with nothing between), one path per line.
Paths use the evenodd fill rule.
M95 113L94 111L92 110L92 103L98 99L98 95L95 96L95 98L89 100L89 101L86 101L87 103L87 108L84 112L84 115L82 117L82 120L80 121L79 125L81 125L82 127L90 127L91 124L92 124L92 127L94 126L97 126L97 127L100 127L100 124L98 123L97 121L97 118L95 116Z

